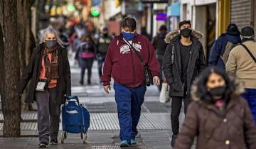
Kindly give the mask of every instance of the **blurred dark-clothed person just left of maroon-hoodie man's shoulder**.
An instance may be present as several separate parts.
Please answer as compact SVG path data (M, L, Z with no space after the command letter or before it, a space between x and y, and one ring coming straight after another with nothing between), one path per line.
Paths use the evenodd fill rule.
M99 77L102 77L102 65L105 61L107 48L110 45L112 37L108 34L107 27L102 29L102 34L100 38L97 40L97 62L98 62L98 71Z

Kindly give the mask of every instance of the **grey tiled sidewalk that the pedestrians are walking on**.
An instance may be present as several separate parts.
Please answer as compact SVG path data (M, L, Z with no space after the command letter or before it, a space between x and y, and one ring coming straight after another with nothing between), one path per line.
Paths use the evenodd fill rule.
M72 93L78 95L80 104L90 111L90 129L88 143L82 144L80 134L68 133L64 144L49 146L48 148L119 148L119 123L117 119L117 106L114 101L114 90L106 94L99 84L97 75L97 62L94 62L92 70L92 85L80 86L80 69L70 60L72 73ZM86 77L85 77L85 80ZM33 105L36 109L36 105ZM159 91L157 87L148 87L142 106L142 116L139 121L139 135L137 146L131 148L171 148L171 104L159 103ZM183 112L183 109L182 111ZM181 114L181 120L184 115ZM29 111L22 114L21 123L22 138L0 138L0 149L11 148L38 148L37 114ZM0 136L2 136L3 116L0 111ZM60 123L60 132L61 132ZM60 142L60 141L59 141Z

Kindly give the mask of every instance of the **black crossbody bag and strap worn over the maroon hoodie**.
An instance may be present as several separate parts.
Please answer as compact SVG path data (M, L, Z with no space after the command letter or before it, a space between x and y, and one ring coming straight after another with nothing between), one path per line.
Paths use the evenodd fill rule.
M136 53L137 57L139 58L139 61L142 62L142 65L143 65L144 70L145 70L145 84L146 84L146 86L153 85L154 84L153 76L151 74L151 71L149 70L148 65L142 59L142 56L139 55L138 51L132 46L132 44L128 43L127 40L125 40L124 38L123 38L123 40L125 41L125 43L127 43L127 45L129 45L130 48L132 48L134 53Z

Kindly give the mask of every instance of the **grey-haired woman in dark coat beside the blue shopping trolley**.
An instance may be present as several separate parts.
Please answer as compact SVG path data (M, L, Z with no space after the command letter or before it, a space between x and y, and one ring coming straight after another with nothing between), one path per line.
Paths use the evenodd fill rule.
M67 53L63 48L57 31L46 28L41 42L33 50L31 60L23 71L18 83L18 94L31 80L28 89L27 103L36 101L38 110L39 148L46 148L49 143L58 143L60 122L60 104L64 96L71 94L70 65Z

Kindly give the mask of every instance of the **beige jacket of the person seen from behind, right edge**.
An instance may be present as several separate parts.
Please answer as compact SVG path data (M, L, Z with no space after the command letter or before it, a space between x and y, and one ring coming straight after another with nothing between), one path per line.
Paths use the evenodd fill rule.
M248 40L243 44L256 57L256 42ZM243 82L245 88L256 89L256 63L242 45L238 45L230 51L226 72Z

